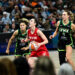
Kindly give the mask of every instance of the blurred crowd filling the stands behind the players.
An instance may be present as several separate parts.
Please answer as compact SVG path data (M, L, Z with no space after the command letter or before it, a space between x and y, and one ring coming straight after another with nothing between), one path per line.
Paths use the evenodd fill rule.
M13 32L19 28L19 19L33 16L41 30L55 29L64 10L75 17L75 0L0 0L0 33Z

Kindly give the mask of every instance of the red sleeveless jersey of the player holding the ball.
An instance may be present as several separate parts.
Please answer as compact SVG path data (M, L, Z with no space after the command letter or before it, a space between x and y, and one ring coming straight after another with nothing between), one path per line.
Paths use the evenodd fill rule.
M35 28L34 33L31 33L31 29L28 30L28 38L30 41L36 41L38 43L43 42L43 39L37 34L38 28ZM47 50L45 45L41 45L38 50ZM38 51L37 50L37 51Z

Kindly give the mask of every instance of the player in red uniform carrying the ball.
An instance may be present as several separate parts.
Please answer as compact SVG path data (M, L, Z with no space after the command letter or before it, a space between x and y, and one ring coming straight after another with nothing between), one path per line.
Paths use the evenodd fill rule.
M48 50L45 46L45 44L48 43L48 40L46 36L38 29L36 28L37 21L35 18L30 19L29 21L29 27L28 30L28 39L31 41L38 42L39 48L36 51L31 51L30 58L28 60L31 67L34 67L34 57L40 57L40 56L49 56Z

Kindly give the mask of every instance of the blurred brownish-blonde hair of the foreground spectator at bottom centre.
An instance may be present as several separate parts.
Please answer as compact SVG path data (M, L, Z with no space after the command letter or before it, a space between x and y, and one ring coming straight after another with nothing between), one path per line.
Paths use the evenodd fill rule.
M39 57L33 75L55 75L54 65L49 57Z

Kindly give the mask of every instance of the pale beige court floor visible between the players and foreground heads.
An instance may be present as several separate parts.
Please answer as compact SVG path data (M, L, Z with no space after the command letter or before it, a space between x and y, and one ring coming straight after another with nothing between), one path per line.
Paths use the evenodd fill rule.
M52 61L54 63L56 73L58 73L58 70L60 68L58 51L49 51L49 54L50 54L50 58L52 59ZM0 56L0 59L2 59L2 58L9 58L10 60L13 61L15 59L15 56L14 55ZM73 52L72 52L72 60L74 61L74 64L75 64L75 50L73 50Z

